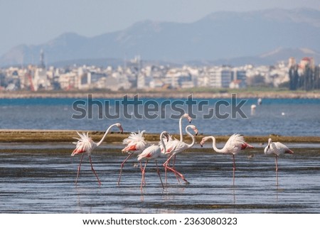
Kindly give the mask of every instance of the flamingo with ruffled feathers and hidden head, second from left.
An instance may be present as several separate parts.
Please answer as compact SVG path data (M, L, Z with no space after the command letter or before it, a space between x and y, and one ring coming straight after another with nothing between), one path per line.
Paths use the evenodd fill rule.
M146 141L144 141L144 136L143 136L144 132L145 131L139 131L138 134L135 132L132 132L127 139L123 140L122 143L126 144L127 146L122 149L122 153L129 153L129 155L121 163L117 185L120 185L124 163L126 163L127 160L131 158L134 154L142 153L142 151L146 147ZM141 163L140 163L140 167L141 167Z

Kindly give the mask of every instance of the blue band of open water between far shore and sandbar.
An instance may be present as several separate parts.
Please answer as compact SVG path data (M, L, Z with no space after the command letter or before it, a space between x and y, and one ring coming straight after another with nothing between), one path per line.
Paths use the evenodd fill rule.
M132 98L129 98L132 99ZM116 107L114 99L100 99L104 104L102 109L97 105L92 108L92 118L85 116L83 119L74 119L73 115L79 115L73 109L73 102L77 99L0 99L0 126L2 129L75 129L82 131L105 131L107 126L120 122L124 131L146 130L148 133L160 133L169 131L178 133L178 120L172 119L171 115L178 115L179 112L166 107L161 109L164 115L161 119L161 111L150 112L156 114L156 119L147 119L146 110L140 107L139 114L142 119L124 118L121 112L118 119L107 119L106 112L114 114ZM85 101L85 99L81 99ZM149 99L143 99L146 102ZM178 102L186 104L186 99L154 99L161 105L164 101ZM201 99L195 99L201 102ZM105 102L109 101L110 106ZM219 99L206 99L209 105L200 107L193 105L192 113L196 116L192 124L195 124L200 133L213 135L230 135L240 133L244 135L269 135L279 134L282 136L320 136L320 99L264 99L262 105L257 106L255 113L251 113L251 104L257 104L256 99L247 99L247 102L241 107L241 111L247 118L242 118L239 114L237 118L232 118L230 107L221 105L216 109L215 104ZM230 103L230 99L224 99ZM237 100L237 104L240 99ZM89 110L87 106L80 106L82 109ZM184 109L185 106L177 105L176 108ZM107 111L106 111L107 109ZM215 114L211 118L204 119L209 114L209 109L213 109ZM128 109L132 114L132 109ZM191 114L191 112L189 112ZM217 118L218 114L230 114L226 119ZM100 117L102 117L100 119ZM186 121L183 121L186 126Z

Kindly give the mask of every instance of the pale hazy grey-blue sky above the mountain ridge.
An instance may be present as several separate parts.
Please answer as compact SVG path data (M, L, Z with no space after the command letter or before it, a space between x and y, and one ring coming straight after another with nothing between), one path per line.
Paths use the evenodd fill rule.
M215 11L320 10L319 0L0 0L0 55L65 32L97 36L137 21L192 22Z

